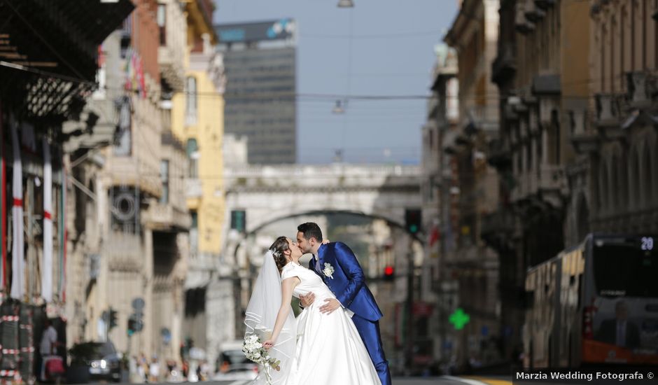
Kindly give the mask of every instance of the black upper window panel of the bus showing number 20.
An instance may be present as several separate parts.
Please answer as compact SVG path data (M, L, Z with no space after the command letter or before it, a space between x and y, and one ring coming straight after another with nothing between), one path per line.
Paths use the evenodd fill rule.
M596 293L605 297L658 297L658 245L652 237L594 241ZM656 239L658 241L658 239Z

